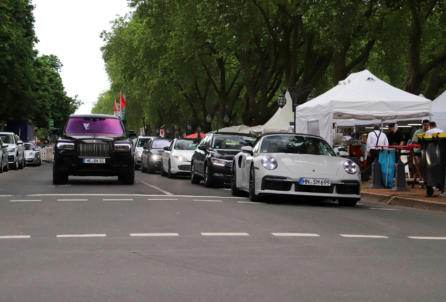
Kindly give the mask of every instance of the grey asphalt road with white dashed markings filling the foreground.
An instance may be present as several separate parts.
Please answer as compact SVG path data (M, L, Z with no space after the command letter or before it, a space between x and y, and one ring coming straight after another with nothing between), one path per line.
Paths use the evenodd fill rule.
M446 301L446 216L0 174L0 301Z

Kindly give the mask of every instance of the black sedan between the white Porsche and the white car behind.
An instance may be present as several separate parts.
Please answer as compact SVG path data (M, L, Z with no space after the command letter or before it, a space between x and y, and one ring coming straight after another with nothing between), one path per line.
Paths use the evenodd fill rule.
M205 187L231 182L232 159L242 147L256 140L255 134L209 132L192 155L191 182L196 184L203 179Z

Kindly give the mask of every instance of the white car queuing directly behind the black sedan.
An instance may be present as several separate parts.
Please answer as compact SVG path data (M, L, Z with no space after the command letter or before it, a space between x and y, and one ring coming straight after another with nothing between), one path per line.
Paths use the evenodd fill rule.
M175 178L177 175L191 175L191 158L200 141L196 138L175 138L164 148L161 157L161 176Z

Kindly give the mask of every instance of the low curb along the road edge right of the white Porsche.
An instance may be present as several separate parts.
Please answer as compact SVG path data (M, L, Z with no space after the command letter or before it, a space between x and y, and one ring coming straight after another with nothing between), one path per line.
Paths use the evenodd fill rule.
M361 192L361 199L377 201L379 203L387 203L394 196L381 195L376 193ZM421 201L417 199L409 199L407 197L396 197L391 200L391 205L405 206L407 208L419 208L422 210L435 210L446 213L446 203L438 203L435 201Z

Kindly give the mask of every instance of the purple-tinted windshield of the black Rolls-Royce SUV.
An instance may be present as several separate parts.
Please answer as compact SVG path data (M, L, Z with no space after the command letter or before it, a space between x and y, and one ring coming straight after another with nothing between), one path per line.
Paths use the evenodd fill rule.
M123 136L124 130L119 119L73 117L68 120L65 133Z

